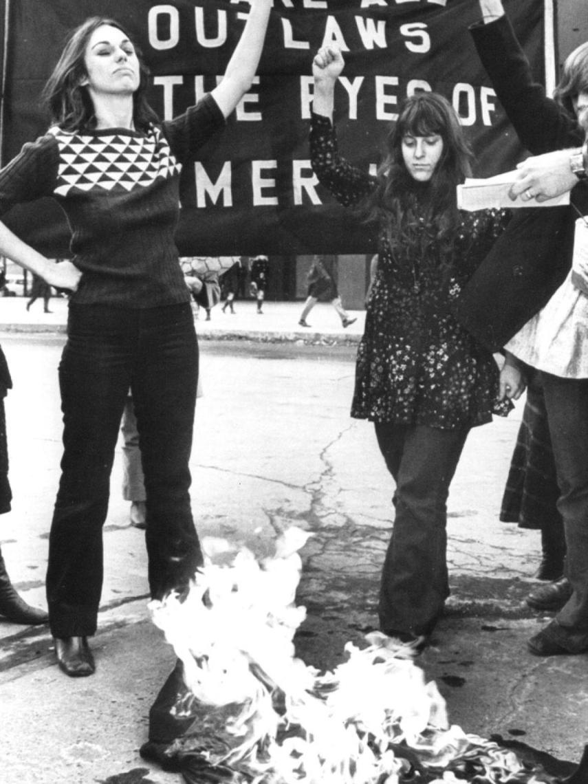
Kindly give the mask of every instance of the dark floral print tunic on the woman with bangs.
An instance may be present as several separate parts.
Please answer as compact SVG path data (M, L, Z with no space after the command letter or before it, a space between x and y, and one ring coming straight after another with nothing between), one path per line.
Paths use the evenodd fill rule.
M344 206L358 204L376 179L339 156L328 118L313 114L314 172ZM452 315L452 300L506 226L498 210L459 212L452 241L437 241L424 218L408 227L394 252L384 227L376 279L358 348L351 416L372 422L452 430L506 415L492 354Z

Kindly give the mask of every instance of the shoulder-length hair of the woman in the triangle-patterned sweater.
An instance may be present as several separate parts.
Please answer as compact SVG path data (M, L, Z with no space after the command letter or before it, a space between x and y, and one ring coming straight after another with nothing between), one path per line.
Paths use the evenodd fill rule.
M43 89L42 100L49 111L51 122L65 131L89 129L96 124L93 101L88 89L81 82L88 75L85 68L85 50L89 39L103 24L118 27L132 42L129 33L117 21L103 16L89 17L68 36L64 51ZM158 122L158 116L145 97L149 71L140 49L134 42L132 45L140 64L140 83L132 96L132 114L135 127L144 130L151 122Z

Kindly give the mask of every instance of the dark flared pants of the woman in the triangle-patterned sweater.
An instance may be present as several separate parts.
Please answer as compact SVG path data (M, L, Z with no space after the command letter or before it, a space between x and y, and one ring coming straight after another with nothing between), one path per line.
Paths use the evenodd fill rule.
M198 381L191 306L71 303L67 329L60 363L64 456L46 586L55 637L96 631L102 527L129 388L145 474L151 596L183 590L202 559L189 495Z

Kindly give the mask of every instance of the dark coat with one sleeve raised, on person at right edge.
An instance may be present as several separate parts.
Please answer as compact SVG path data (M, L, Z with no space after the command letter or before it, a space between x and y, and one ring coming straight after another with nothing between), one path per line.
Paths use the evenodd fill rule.
M579 147L584 133L533 81L527 58L506 16L471 28L477 52L521 143L532 154ZM579 183L572 203L588 212L588 187ZM572 205L515 209L456 302L461 323L492 351L499 350L546 305L572 265Z

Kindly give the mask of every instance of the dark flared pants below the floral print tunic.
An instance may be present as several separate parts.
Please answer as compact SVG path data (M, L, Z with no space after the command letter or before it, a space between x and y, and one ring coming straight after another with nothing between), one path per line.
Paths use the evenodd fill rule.
M429 634L449 594L447 498L468 429L376 423L396 482L396 515L379 591L379 627Z

